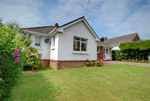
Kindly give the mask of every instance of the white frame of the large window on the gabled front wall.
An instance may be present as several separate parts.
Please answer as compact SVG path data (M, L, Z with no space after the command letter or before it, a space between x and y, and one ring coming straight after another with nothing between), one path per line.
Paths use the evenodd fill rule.
M76 40L75 38L79 38L79 40ZM86 40L86 41L82 41L82 39ZM80 44L80 48L79 51L74 50L74 42L79 42ZM86 44L86 51L82 51L82 43ZM87 38L83 38L83 37L79 37L79 36L73 36L73 51L74 52L87 52L87 44L88 44L88 39Z

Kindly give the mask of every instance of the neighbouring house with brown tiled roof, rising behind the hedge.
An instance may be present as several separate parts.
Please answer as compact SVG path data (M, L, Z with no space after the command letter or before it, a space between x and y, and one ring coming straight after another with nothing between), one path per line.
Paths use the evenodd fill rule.
M141 40L138 33L132 33L132 34L128 34L128 35L123 35L123 36L119 36L119 37L114 37L114 38L110 38L107 39L107 37L104 38L104 42L102 42L102 44L104 45L109 45L112 46L112 50L120 50L118 44L120 42L129 42L129 41L139 41Z

